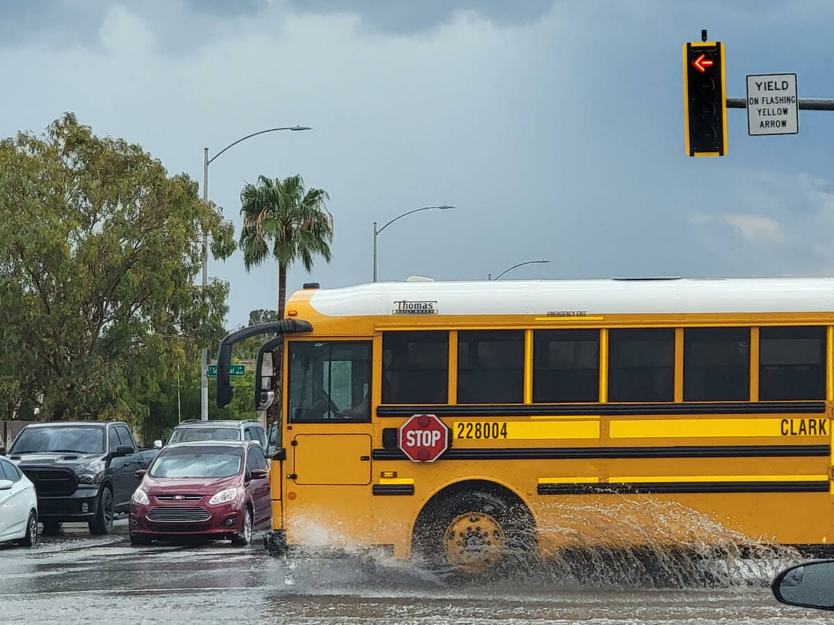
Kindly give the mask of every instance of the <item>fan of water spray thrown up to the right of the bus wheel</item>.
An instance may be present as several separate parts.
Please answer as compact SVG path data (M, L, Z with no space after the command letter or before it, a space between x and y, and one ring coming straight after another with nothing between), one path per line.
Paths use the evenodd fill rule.
M800 558L793 547L752 540L681 502L623 496L546 516L557 522L536 533L555 547L545 547L536 574L564 587L747 587Z

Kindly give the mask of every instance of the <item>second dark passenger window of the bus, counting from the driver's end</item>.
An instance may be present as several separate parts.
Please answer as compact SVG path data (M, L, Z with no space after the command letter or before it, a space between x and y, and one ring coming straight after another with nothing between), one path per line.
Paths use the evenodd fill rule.
M458 333L458 403L524 401L524 332Z

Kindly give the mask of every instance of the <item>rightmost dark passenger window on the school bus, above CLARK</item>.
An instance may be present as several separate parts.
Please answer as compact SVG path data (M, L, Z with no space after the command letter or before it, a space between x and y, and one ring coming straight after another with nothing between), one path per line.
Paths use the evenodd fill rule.
M826 398L826 328L759 330L759 398Z

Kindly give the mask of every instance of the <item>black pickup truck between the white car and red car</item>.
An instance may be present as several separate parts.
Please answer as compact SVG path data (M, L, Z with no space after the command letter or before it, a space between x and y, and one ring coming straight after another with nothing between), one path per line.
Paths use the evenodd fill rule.
M87 521L90 533L107 534L116 512L128 512L139 483L158 451L139 449L127 423L30 423L14 439L8 459L32 480L45 533L62 522Z

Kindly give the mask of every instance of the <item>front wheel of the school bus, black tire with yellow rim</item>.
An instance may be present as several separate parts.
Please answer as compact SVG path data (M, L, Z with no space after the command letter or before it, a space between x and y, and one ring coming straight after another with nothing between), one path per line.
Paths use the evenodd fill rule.
M499 493L450 493L421 517L415 550L452 577L500 577L526 568L535 551L530 512Z

